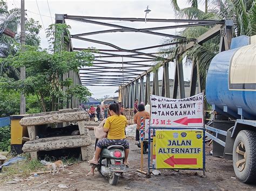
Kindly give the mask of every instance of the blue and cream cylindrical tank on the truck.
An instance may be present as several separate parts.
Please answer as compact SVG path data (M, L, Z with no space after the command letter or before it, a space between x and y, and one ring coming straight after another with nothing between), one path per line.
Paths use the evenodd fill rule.
M207 102L228 117L256 120L256 36L234 38L231 48L211 61Z

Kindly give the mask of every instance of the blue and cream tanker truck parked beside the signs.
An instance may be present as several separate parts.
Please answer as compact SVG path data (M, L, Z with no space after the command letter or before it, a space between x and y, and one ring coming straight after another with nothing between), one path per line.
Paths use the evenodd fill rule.
M233 160L237 178L256 180L256 36L233 38L211 61L206 98L214 116L205 125L213 156Z

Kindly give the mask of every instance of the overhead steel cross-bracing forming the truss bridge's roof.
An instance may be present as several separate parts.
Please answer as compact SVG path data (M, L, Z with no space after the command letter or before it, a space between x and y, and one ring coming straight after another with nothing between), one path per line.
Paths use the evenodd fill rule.
M91 43L102 44L102 45L109 46L109 47L113 48L113 49L97 49L95 51L93 49L90 49L93 53L96 54L96 56L95 56L96 59L95 59L94 65L92 67L79 68L80 80L81 80L82 84L86 85L86 86L125 86L127 84L130 84L130 83L138 80L140 77L143 77L147 73L152 72L155 67L163 66L166 62L173 60L173 58L160 57L160 59L163 60L163 62L157 63L157 65L144 64L143 62L156 61L156 59L159 59L159 56L156 55L156 54L158 54L157 52L145 53L143 51L149 50L152 48L172 46L172 45L178 45L178 44L184 44L183 51L185 51L186 49L191 48L196 43L203 43L204 41L208 40L209 38L216 36L217 33L219 32L220 28L223 27L223 25L225 24L225 20L149 18L149 19L147 19L147 22L186 23L186 24L136 29L133 27L126 27L126 26L117 25L117 24L99 22L96 20L119 20L119 21L127 21L127 22L145 22L145 18L89 17L89 16L70 16L70 15L56 14L56 23L60 23L60 22L65 23L65 19L75 20L77 22L84 22L84 23L90 23L90 24L95 24L95 25L108 26L108 27L114 28L111 30L101 30L101 31L79 33L79 34L73 34L70 36L70 38L73 38L73 39L90 41ZM178 29L181 27L206 26L206 25L215 25L215 26L212 27L212 29L210 29L209 31L207 31L203 37L200 36L197 39L187 39L186 37L176 36L176 35L172 35L172 34L153 32L153 31L164 30L164 29ZM153 34L156 36L175 38L175 39L178 39L178 41L174 42L174 43L169 43L169 44L140 47L140 48L135 48L135 49L126 49L126 48L118 47L114 44L111 44L111 43L108 43L105 41L84 38L84 36L92 36L94 34L114 33L114 32L141 32L141 33L146 33L146 34ZM71 46L72 46L72 42L71 42ZM70 49L72 51L80 51L82 49L88 49L88 48L71 47ZM104 54L105 56L99 56L99 54ZM99 58L106 58L106 59L107 58L122 58L122 60L123 60L124 57L131 58L133 60L125 61L125 62L124 61L116 62L116 61L110 61L110 60L99 60ZM137 60L134 60L134 59L137 59ZM122 63L122 67L110 66L113 63ZM106 65L106 66L100 66L100 65ZM124 66L124 65L127 65L127 66ZM150 67L150 68L149 69L134 69L136 67L139 67L139 68L144 68L144 67L149 68ZM119 69L119 71L118 71L118 69ZM110 70L110 71L108 71L108 70ZM117 71L114 71L114 70L117 70ZM140 74L136 73L136 71L140 72ZM93 75L96 73L98 74L97 76ZM104 75L104 73L113 73L113 75ZM119 75L118 74L115 75L114 73L119 73ZM122 74L120 74L120 73L122 73ZM86 76L86 74L87 74L87 76ZM112 78L111 77L107 78L106 76L112 76ZM117 78L113 78L113 77L117 77Z

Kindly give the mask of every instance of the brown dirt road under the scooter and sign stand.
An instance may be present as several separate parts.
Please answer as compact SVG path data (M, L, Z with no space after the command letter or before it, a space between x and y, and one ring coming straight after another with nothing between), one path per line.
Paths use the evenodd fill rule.
M0 190L11 189L62 189L58 185L67 185L70 190L255 190L256 185L246 185L235 179L232 161L206 156L206 177L201 177L201 171L179 171L161 170L161 175L152 175L147 179L145 175L136 172L139 168L139 148L134 145L134 139L129 138L130 142L130 168L120 178L117 186L109 185L107 179L103 178L98 172L95 176L85 176L90 170L87 162L80 162L69 166L65 171L61 171L55 176L50 174L41 174L37 177L19 180L18 183L6 184L6 180L0 180ZM93 153L93 145L90 146L90 155ZM206 150L210 150L206 147ZM147 155L144 155L145 161ZM145 162L146 168L146 162ZM12 180L12 179L11 179ZM1 182L2 181L2 182ZM65 188L67 189L67 188Z

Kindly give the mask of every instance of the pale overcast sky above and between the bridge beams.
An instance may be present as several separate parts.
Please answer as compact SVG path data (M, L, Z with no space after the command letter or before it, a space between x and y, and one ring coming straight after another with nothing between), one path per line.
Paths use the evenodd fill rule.
M20 0L8 0L9 8L21 6ZM185 0L180 0L179 5L181 7L185 7ZM49 6L48 6L49 3ZM170 5L170 0L158 0L158 1L57 1L57 0L25 0L25 10L27 14L27 18L34 18L38 20L43 29L40 32L41 37L41 47L48 48L49 44L45 37L45 31L50 24L55 22L55 13L59 14L68 14L68 15L76 15L76 16L98 16L98 17L136 17L136 18L144 18L147 5L152 10L147 18L175 18L173 10ZM39 9L38 9L39 8ZM156 27L156 26L167 26L174 25L174 23L144 23L144 22L118 22L118 21L105 21L113 24L130 26L136 28L147 28L147 27ZM86 23L75 22L71 20L66 20L66 23L69 24L71 29L71 34L92 32L98 30L107 30L111 29L110 27L92 25ZM163 30L157 32L164 32L169 34L175 34L176 30ZM164 38L161 36L154 36L151 34L144 33L133 33L133 32L116 32L110 34L97 34L96 36L89 36L91 39L102 40L108 43L117 45L126 49L134 49L146 46L154 46L163 44ZM87 37L86 37L87 38ZM103 45L87 43L86 41L81 41L77 39L72 39L73 47L77 48L87 48L87 47L96 47L96 48L108 48ZM150 49L150 51L154 51ZM147 52L147 51L145 51ZM111 61L122 61L120 58L109 59ZM124 61L129 61L131 59L125 59ZM153 65L154 63L149 63ZM120 65L121 67L121 65ZM170 78L173 79L173 65L170 66ZM144 68L145 69L145 68ZM122 73L120 73L122 74ZM159 71L159 79L163 74L163 71ZM185 68L184 79L190 79L190 68ZM152 77L151 77L152 79ZM117 96L114 94L114 91L118 89L118 87L87 87L93 93L93 97L100 98L104 95Z

